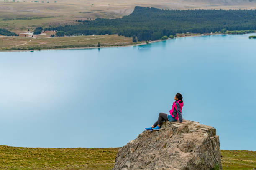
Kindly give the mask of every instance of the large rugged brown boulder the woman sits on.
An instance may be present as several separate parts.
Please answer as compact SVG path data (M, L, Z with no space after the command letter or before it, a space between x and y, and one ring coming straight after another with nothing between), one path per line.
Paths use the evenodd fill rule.
M118 150L113 170L222 170L216 129L184 122L143 131Z

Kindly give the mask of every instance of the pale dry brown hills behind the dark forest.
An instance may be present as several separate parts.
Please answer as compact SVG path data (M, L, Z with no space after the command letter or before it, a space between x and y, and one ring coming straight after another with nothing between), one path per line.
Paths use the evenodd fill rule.
M161 9L255 9L255 0L0 0L0 28L15 32L36 26L75 24L87 18L118 18L135 6ZM49 3L47 3L49 2ZM25 20L24 18L28 18ZM18 18L18 19L17 19ZM19 19L23 18L23 19ZM7 19L7 20L6 20Z

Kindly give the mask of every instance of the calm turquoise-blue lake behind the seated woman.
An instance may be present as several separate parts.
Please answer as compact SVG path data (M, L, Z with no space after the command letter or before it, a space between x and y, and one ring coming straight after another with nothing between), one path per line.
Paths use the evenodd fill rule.
M220 148L256 150L256 40L0 52L0 145L120 147L167 113L216 128Z

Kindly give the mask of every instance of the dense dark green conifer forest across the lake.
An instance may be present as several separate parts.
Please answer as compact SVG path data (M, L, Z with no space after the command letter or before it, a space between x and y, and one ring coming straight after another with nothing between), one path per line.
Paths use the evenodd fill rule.
M134 8L123 18L96 18L79 25L49 27L65 35L118 34L141 40L158 40L177 33L210 33L226 30L256 30L256 10L160 10Z

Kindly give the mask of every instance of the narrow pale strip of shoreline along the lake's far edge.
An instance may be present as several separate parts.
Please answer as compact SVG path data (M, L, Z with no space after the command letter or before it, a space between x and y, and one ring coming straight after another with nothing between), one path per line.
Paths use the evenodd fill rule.
M184 34L185 35L185 34ZM179 36L175 38L181 38L181 37L198 37L198 36L207 36L207 35L222 35L222 34L189 34L185 36ZM168 38L166 40L170 40L171 38ZM155 42L161 42L165 40L154 40L149 41L148 44L155 43ZM0 52L23 52L23 51L41 51L41 50L82 50L82 49L94 49L94 48L109 48L109 47L130 47L130 46L137 46L137 45L147 45L146 42L141 42L138 44L129 44L129 45L113 45L113 46L102 46L102 47L74 47L74 48L47 48L47 49L35 49L35 50L0 50Z

